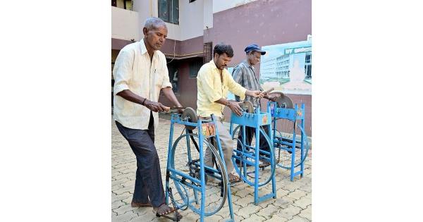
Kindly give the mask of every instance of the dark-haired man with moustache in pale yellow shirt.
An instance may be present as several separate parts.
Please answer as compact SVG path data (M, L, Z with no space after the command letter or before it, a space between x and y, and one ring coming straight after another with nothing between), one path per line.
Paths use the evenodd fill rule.
M216 44L213 49L213 60L205 63L197 75L197 115L202 119L209 119L211 114L217 118L216 127L219 132L219 140L231 183L240 181L238 175L232 173L233 164L231 161L234 142L229 131L223 125L223 109L228 106L233 113L242 115L242 109L235 101L228 101L228 91L240 96L263 97L259 90L247 90L236 83L231 73L226 70L227 64L233 57L233 49L228 44ZM206 149L204 164L213 167L212 151Z

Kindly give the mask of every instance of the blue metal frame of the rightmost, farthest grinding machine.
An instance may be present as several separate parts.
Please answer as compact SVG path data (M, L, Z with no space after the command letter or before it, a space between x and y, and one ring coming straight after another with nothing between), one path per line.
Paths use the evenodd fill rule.
M300 175L300 178L302 178L303 174L304 174L304 160L307 156L307 152L308 152L308 140L307 140L307 135L305 134L305 104L301 105L301 108L298 108L298 105L295 104L295 108L294 109L285 109L285 108L278 108L276 102L271 102L268 101L267 102L267 106L268 108L270 108L271 110L271 117L272 117L272 123L273 123L273 131L274 131L274 144L276 144L276 146L274 147L275 152L276 149L284 149L287 150L289 152L291 152L291 163L290 163L290 167L288 169L290 169L290 181L294 180L294 177L296 175ZM292 142L286 142L286 141L282 141L282 135L276 135L276 121L278 119L288 119L290 121L293 121L294 123L294 127L293 127L293 141ZM298 125L298 122L300 121L300 125ZM295 128L296 127L300 127L301 130L301 141L300 141L300 150L301 150L301 162L299 164L300 166L300 171L296 171L295 172L295 147L297 146L297 139L296 139L296 133L295 133ZM306 143L307 142L307 143ZM305 149L305 144L307 144L307 150L306 152L304 152ZM288 146L288 147L285 147ZM281 166L282 168L286 168L283 167L280 164L276 164L277 166Z

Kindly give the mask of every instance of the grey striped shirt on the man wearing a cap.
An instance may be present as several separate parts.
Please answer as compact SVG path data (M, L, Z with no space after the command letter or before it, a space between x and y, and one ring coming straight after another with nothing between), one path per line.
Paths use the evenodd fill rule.
M248 64L247 60L242 61L235 66L232 71L232 77L235 82L238 82L247 90L262 90L263 88L260 86L260 82L257 79L254 67ZM235 100L240 101L240 97L235 95ZM246 96L245 101L251 101L253 106L260 105L260 99L255 97Z

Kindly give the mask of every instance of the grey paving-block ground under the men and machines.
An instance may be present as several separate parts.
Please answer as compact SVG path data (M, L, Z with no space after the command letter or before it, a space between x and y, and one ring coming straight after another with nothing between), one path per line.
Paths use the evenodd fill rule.
M165 181L166 175L169 128L170 121L160 119L159 128L155 132L155 144L160 158L163 181ZM176 126L175 139L182 130L182 127ZM128 142L118 132L113 118L111 131L111 221L171 221L166 218L157 218L151 207L133 208L130 206L135 182L135 155ZM252 203L254 187L250 187L246 183L234 185L232 199L235 221L312 221L311 164L311 151L309 151L305 160L304 177L296 177L293 182L289 180L288 170L276 168L277 198L266 200L258 206ZM271 187L266 185L260 189L266 191ZM205 221L226 221L229 217L228 208L225 206L217 214L206 217ZM181 221L197 221L200 218L190 209L180 211L180 213L183 215Z

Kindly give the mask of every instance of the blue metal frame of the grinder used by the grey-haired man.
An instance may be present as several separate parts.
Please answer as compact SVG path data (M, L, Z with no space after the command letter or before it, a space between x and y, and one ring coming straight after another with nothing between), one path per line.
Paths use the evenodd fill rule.
M204 166L204 152L203 152L203 141L206 140L209 137L206 137L205 135L202 134L202 123L209 123L209 122L213 122L214 125L216 126L215 130L216 130L216 134L213 136L209 136L209 137L215 137L215 140L217 142L217 147L218 148L218 152L221 156L221 161L223 162L223 168L224 171L226 172L226 164L225 164L225 160L223 158L223 152L221 149L221 144L220 144L220 140L219 140L219 130L217 129L217 125L216 125L216 120L214 118L214 116L212 115L212 120L211 121L204 121L201 120L200 118L198 119L197 123L190 123L189 121L183 120L181 118L181 115L178 113L173 113L171 116L171 129L170 129L170 134L169 134L169 144L168 144L168 161L167 161L167 170L166 170L166 191L169 187L169 179L172 179L173 182L176 185L176 188L178 190L178 192L183 192L182 190L180 190L180 187L183 187L183 190L185 191L185 193L187 193L187 197L188 197L188 192L186 191L185 187L190 187L193 190L197 190L199 192L201 192L201 202L200 202L200 211L195 208L194 206L192 206L191 203L196 202L198 204L198 197L197 197L197 192L194 192L195 194L195 199L184 199L183 198L183 202L184 204L180 204L178 205L178 207L182 210L188 209L188 207L194 211L196 214L200 214L200 221L203 222L204 221L204 217L206 216L210 216L212 214L215 214L216 212L212 212L212 214L206 214L204 211L204 199L205 199L205 187L206 187L206 181L205 181L205 176L204 176L204 168L207 168L210 171L214 171L217 172L214 168L209 168L208 166ZM191 125L191 126L195 126L198 129L198 145L199 145L199 151L200 151L200 180L198 180L197 178L193 178L190 175L187 175L181 171L177 171L176 169L172 168L172 166L174 166L174 162L173 160L173 156L172 155L172 150L173 150L173 126L174 124L181 124L181 125ZM188 133L188 129L185 130L185 137L186 137L186 141L187 141L187 147L188 147L188 161L192 161L191 158L191 152L190 152L190 134ZM175 145L179 142L179 140L181 140L183 137L179 137L176 141L175 141ZM176 147L175 147L176 148ZM233 207L232 207L232 197L231 197L231 185L229 183L229 179L228 179L228 175L226 173L226 175L221 175L221 176L225 176L226 177L226 181L228 181L227 184L227 199L228 199L228 207L229 207L229 214L231 216L231 219L229 219L228 221L234 221L234 216L233 216ZM180 179L180 177L185 178L185 180L190 180L196 184L200 184L200 187L198 187L197 185L192 185L190 183L183 183ZM217 179L219 179L219 177L216 177ZM223 180L222 178L220 178L220 180ZM183 183L183 185L182 185ZM179 186L180 185L180 186ZM180 195L181 197L183 197L183 195ZM169 204L169 195L168 192L166 192L166 204Z

